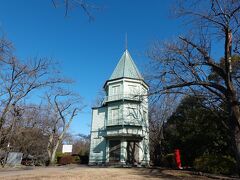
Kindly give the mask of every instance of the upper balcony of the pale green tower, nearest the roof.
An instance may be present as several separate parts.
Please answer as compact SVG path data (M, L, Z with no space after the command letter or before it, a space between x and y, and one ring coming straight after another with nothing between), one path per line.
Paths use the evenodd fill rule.
M117 95L112 95L112 96L106 96L103 100L103 104L106 104L106 103L111 102L111 101L120 101L120 100L141 102L141 101L143 101L143 95L117 94Z

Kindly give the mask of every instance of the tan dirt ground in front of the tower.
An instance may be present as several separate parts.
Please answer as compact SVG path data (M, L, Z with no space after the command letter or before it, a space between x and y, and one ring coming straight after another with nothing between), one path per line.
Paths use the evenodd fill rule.
M210 179L188 171L159 168L111 168L68 165L58 167L21 167L0 169L1 180L145 180Z

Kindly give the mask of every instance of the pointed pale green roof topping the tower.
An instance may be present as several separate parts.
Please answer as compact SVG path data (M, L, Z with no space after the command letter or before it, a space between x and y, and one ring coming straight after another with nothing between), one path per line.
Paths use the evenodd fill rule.
M123 53L109 80L124 77L143 80L128 50Z

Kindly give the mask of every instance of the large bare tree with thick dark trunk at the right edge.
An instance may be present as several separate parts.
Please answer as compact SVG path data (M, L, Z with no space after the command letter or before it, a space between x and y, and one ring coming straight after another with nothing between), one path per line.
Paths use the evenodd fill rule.
M240 1L181 1L176 13L197 30L172 42L157 42L149 51L156 70L152 76L156 88L153 94L190 90L224 103L240 169L240 110L236 87L239 70L233 72L232 63L233 53L239 55ZM222 65L211 54L216 43L223 47ZM218 80L209 78L212 73Z

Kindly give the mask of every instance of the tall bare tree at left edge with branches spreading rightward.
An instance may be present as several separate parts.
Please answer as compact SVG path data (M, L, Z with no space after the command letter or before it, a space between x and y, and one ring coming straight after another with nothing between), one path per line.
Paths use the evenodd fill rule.
M33 92L43 87L68 82L59 78L47 58L20 61L12 54L12 44L0 39L0 148L9 140L14 127L16 107Z

